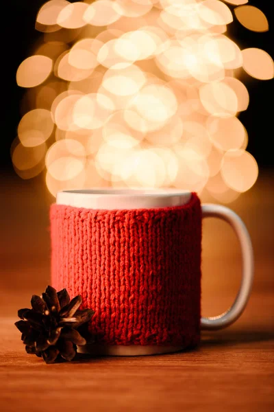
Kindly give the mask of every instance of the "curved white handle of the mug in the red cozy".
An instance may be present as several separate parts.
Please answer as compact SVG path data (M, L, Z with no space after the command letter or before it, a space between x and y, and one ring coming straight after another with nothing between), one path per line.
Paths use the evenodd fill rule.
M247 228L234 211L228 207L214 204L202 205L201 211L202 218L220 218L229 223L238 237L242 251L242 282L234 304L219 316L201 318L202 330L217 330L234 323L247 305L253 284L253 249Z

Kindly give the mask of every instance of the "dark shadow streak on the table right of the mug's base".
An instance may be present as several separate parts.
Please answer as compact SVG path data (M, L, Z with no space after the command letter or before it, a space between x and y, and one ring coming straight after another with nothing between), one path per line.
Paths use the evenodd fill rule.
M241 343L274 341L274 330L221 330L202 332L203 347L238 345Z

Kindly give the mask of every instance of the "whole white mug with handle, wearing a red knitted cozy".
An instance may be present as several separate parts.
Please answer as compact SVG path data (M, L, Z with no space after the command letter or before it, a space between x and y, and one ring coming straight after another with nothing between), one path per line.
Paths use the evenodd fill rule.
M253 252L234 211L201 205L175 190L71 190L51 206L51 283L95 310L92 345L82 352L141 355L199 343L202 329L233 323L247 304ZM231 308L201 317L201 222L216 217L236 232L242 282Z

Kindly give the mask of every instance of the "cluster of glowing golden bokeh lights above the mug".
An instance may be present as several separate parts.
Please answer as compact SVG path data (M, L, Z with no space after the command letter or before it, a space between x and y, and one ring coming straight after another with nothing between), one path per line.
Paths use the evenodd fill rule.
M244 69L271 79L274 66L227 36L234 15L249 30L268 30L247 3L47 1L36 19L43 39L16 75L32 88L12 144L16 172L28 179L46 167L53 196L177 187L229 203L249 190L258 166L237 117L249 104L237 77Z

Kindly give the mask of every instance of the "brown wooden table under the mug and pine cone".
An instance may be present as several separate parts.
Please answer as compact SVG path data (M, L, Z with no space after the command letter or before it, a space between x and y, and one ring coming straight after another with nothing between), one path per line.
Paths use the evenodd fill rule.
M16 310L49 283L48 208L41 181L6 176L1 189L0 411L273 411L273 206L270 174L232 203L251 233L256 277L242 317L202 334L191 352L138 358L82 358L45 365L25 354ZM271 192L272 190L272 192ZM206 220L203 315L219 314L240 282L238 242L224 222Z

